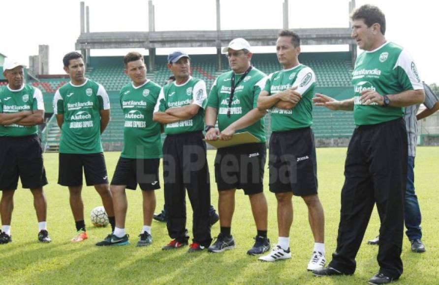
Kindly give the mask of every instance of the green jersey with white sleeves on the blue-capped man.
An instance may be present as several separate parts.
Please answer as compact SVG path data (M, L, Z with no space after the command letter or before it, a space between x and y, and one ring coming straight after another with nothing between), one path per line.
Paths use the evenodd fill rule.
M189 77L182 85L174 82L164 85L160 90L154 112L165 112L169 108L180 108L190 104L200 106L196 115L188 120L182 120L164 125L167 135L182 134L204 129L204 109L206 108L206 83L201 79Z

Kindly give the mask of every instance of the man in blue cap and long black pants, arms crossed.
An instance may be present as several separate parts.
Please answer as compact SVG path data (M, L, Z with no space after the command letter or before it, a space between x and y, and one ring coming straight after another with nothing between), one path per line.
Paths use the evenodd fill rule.
M204 108L207 92L203 80L189 75L190 58L176 51L168 56L168 69L175 81L164 85L153 119L164 124L163 181L168 216L166 226L171 242L163 250L188 244L186 190L193 210L193 240L188 252L203 251L212 242L210 235L210 179L203 142Z

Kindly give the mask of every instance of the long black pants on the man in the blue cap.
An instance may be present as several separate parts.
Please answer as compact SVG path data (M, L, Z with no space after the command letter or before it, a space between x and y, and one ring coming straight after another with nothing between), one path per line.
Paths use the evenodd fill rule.
M188 240L186 190L193 211L193 241L212 242L209 224L210 178L201 131L167 135L163 143L163 181L167 228L171 238Z

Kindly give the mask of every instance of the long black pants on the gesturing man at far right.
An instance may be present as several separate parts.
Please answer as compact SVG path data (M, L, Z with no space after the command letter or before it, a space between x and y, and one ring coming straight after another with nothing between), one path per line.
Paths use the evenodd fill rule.
M345 274L354 273L355 256L376 203L381 221L379 271L393 278L403 273L407 159L403 119L355 129L345 162L337 249L329 266Z

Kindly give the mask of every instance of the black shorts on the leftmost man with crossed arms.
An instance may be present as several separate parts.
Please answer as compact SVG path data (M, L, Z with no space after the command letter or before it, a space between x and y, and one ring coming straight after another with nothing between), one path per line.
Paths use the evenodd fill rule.
M0 137L0 190L16 190L18 177L23 188L47 184L43 150L37 135Z

